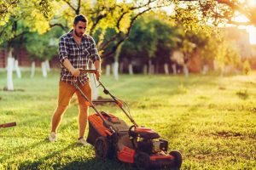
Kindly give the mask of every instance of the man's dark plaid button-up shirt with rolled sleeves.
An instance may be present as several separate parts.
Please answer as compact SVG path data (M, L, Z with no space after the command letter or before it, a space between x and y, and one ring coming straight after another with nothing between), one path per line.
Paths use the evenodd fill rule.
M101 60L92 37L84 35L81 44L78 45L73 38L72 32L73 30L61 36L59 42L59 59L61 61L60 80L69 84L72 84L73 75L64 65L62 65L64 59L68 59L75 69L88 68L90 59L93 63L96 60ZM81 73L78 79L83 85L89 81L89 77L86 73Z

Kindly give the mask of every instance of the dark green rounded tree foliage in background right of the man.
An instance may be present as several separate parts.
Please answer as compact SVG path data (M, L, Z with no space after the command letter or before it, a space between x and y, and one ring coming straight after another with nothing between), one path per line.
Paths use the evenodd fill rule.
M161 21L157 14L145 14L135 22L122 48L122 58L169 60L171 50L176 46L177 29Z

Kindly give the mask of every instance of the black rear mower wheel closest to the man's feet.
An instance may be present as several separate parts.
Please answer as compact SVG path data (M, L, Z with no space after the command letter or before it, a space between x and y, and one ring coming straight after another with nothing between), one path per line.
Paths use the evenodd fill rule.
M113 155L113 148L105 137L98 137L94 144L96 158L105 159Z

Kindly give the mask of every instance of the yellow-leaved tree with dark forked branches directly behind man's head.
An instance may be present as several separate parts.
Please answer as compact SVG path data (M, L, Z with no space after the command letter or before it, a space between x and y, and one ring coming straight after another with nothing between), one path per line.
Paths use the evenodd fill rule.
M102 58L113 55L118 46L124 42L130 35L131 27L135 20L154 8L161 8L168 6L172 1L168 0L148 0L148 1L134 1L132 3L118 3L115 0L98 0L96 3L90 1L69 1L60 0L53 1L49 6L61 8L61 10L53 13L52 20L49 26L61 26L65 31L73 25L73 17L76 14L84 13L90 20L87 32L98 39L97 48L99 49ZM113 28L116 33L104 41L104 36L109 28ZM100 34L96 31L100 30ZM109 44L113 44L108 53L103 53Z

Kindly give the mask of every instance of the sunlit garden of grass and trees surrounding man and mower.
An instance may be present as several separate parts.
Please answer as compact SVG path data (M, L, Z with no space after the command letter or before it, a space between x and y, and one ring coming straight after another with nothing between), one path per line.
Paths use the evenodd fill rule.
M76 14L89 20L102 82L181 151L182 169L255 169L255 9L253 0L1 1L0 124L18 124L0 129L0 169L135 169L76 144L76 98L58 142L48 141L59 37ZM90 80L94 99L107 98ZM115 105L98 107L129 122Z

